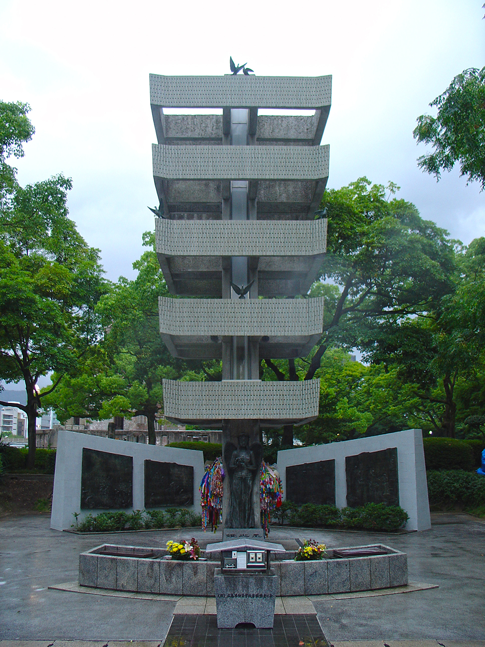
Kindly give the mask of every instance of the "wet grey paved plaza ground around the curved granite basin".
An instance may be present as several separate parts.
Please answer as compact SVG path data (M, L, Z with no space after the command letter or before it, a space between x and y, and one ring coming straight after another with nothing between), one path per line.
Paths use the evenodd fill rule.
M221 540L196 529L78 535L53 531L48 515L0 519L0 647L10 641L153 641L169 628L177 597L87 595L49 589L78 578L79 553L101 543L164 547L167 540L195 536ZM335 647L485 647L485 521L465 514L434 514L430 531L407 534L272 528L270 540L314 538L327 547L385 543L408 556L409 580L438 588L398 593L286 601L292 613L313 604L327 641ZM161 599L164 598L164 599ZM194 600L194 598L191 598ZM205 600L205 598L203 598ZM209 605L211 598L204 604ZM202 604L202 600L195 600ZM296 604L296 606L294 606ZM204 611L187 611L204 613ZM351 641L351 642L350 642ZM397 642L396 642L397 641ZM21 643L16 642L17 647ZM121 646L118 646L121 647ZM147 645L146 647L152 647Z

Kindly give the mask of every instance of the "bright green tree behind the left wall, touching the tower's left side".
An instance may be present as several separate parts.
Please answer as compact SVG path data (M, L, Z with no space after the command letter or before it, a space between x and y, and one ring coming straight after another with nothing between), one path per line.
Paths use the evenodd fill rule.
M162 379L200 380L202 373L200 364L189 367L173 358L162 342L158 297L170 295L153 250L154 234L146 232L143 239L150 249L133 263L135 280L121 277L96 307L103 339L88 362L61 379L48 403L59 421L73 415L98 420L144 415L149 444L155 444L155 421L163 414Z

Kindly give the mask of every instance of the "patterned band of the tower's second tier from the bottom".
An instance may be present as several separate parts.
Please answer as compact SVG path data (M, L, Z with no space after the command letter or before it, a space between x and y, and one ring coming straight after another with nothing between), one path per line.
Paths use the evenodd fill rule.
M311 336L323 330L314 299L158 299L160 333L182 336Z

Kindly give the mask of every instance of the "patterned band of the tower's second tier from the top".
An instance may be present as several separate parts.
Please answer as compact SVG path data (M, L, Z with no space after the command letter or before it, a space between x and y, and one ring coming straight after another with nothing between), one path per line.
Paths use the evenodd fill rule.
M320 180L329 146L152 145L153 176L166 180Z

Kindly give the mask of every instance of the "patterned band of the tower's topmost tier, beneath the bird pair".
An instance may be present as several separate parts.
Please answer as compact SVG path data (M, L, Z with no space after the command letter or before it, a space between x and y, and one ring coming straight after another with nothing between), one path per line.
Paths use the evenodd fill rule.
M332 76L150 74L150 103L160 107L318 109L331 100Z

